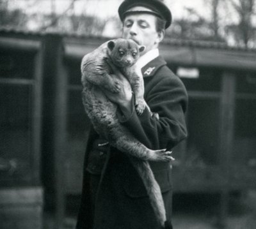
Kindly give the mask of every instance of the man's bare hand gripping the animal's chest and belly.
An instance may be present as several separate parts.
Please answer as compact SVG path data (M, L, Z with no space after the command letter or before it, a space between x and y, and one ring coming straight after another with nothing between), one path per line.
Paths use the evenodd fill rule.
M129 117L132 112L132 89L129 81L125 76L116 68L116 66L111 63L108 59L106 60L111 66L111 69L113 70L114 74L111 74L111 77L115 77L120 82L120 91L115 93L108 91L106 89L103 89L106 96L111 100L113 103L116 103L120 109L122 110L122 113Z

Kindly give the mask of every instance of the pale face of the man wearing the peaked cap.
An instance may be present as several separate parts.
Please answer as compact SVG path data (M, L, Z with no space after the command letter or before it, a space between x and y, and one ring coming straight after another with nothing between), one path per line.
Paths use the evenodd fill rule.
M145 54L157 48L163 38L163 33L156 31L156 17L147 13L127 15L124 19L122 37L132 39L138 45L145 45Z

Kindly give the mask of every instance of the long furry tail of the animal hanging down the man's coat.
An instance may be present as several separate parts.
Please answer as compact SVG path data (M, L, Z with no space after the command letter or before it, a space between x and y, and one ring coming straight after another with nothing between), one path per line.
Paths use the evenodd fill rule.
M154 209L154 213L156 215L157 221L159 222L159 225L161 225L162 228L170 228L166 227L166 211L164 208L163 196L161 194L159 184L157 184L154 174L150 168L150 165L147 161L142 161L132 157L131 161L138 171L138 174L140 174L144 186L147 189L150 203Z

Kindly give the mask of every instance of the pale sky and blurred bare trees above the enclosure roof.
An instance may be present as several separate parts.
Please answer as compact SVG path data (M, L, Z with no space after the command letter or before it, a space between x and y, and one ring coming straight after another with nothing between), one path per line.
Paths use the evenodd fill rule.
M116 37L122 0L1 0L1 27ZM166 0L173 24L166 38L255 47L255 0Z

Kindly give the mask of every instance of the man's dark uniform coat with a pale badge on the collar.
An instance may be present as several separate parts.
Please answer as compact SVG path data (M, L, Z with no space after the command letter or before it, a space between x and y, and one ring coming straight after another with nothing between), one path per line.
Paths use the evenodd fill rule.
M186 111L188 96L181 80L166 66L162 57L150 61L141 70L145 84L145 101L159 119L147 108L141 115L136 111L120 122L150 149L171 150L186 138ZM91 131L86 149L92 150L97 134ZM172 176L170 163L150 162L163 193L167 218L172 211ZM110 148L102 171L94 212L90 209L88 172L84 169L83 193L77 220L77 229L157 229L156 218L143 187L141 178L124 153ZM93 225L93 226L92 226Z

